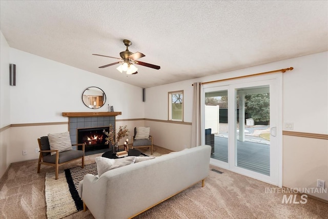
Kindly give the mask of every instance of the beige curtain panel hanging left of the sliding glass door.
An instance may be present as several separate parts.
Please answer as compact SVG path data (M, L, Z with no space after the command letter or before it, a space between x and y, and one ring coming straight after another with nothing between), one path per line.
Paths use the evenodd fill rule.
M199 82L193 84L193 117L192 117L192 133L191 147L201 145L201 130L200 130L200 92L201 85Z

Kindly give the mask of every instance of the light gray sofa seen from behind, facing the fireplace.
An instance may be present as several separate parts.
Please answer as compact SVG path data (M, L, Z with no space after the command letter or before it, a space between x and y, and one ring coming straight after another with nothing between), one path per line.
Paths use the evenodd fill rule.
M158 156L100 177L87 174L78 193L95 218L131 218L202 181L209 174L208 145Z

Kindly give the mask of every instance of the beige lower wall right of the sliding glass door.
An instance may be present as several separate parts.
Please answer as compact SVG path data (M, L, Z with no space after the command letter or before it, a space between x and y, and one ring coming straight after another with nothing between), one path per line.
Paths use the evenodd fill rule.
M328 140L283 135L282 185L317 188L317 179L328 184ZM328 193L309 193L328 201Z

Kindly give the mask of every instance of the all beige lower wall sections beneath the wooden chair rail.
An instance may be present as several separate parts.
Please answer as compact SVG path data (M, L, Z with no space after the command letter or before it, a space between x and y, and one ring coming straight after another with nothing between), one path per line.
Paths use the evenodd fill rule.
M154 145L173 151L190 148L191 125L175 124L167 121L152 120L116 120L119 126L128 126L129 140L133 129L137 126L151 127ZM38 148L37 138L48 133L68 130L68 124L60 125L30 125L10 127L0 132L0 174L1 177L11 163L34 160L38 158L35 148ZM121 140L119 144L123 144ZM22 155L27 150L27 155ZM316 188L319 178L328 184L328 140L283 135L283 182L289 188ZM311 193L315 197L328 201L328 194Z

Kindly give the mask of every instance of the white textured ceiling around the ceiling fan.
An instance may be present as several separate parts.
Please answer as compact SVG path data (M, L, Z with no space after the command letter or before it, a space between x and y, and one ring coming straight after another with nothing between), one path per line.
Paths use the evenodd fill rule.
M10 47L148 88L327 51L327 1L1 1ZM99 66L130 39L138 74Z

